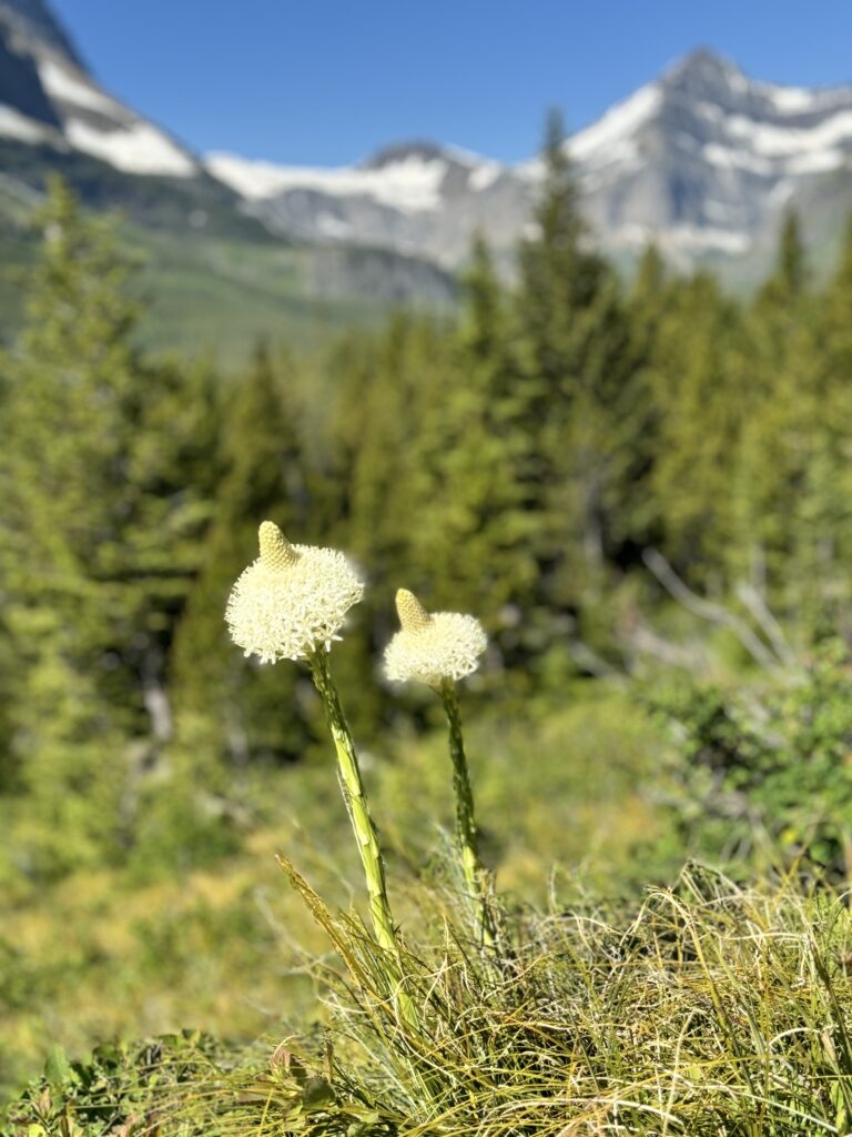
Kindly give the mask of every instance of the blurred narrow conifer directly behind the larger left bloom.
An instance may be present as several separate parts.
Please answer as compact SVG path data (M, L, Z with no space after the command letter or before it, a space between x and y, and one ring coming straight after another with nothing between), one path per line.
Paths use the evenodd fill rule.
M172 671L177 746L185 767L204 771L223 789L228 771L250 760L293 758L307 728L294 695L295 669L242 659L227 639L228 590L257 543L258 525L274 518L293 540L307 536L308 498L287 365L278 370L265 345L231 391L223 415L222 478L202 566L177 631Z

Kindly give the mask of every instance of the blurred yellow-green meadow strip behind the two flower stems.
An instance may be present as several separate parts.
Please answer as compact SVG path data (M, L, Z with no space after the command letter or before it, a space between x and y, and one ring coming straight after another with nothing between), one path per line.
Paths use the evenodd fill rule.
M561 862L561 896L578 881L629 888L634 854L660 821L642 788L662 742L620 695L532 728L471 715L469 750L486 854L501 889L544 901ZM390 848L398 918L417 927L409 886L452 825L442 733L365 755L373 808ZM360 895L357 857L332 755L270 773L242 855L189 878L148 882L107 869L45 894L0 902L0 1082L39 1069L51 1045L83 1054L98 1040L203 1027L227 1037L281 1035L317 1013L294 973L299 948L324 944L275 865L290 856L320 893ZM571 879L577 870L578 880ZM416 898L411 902L416 904Z

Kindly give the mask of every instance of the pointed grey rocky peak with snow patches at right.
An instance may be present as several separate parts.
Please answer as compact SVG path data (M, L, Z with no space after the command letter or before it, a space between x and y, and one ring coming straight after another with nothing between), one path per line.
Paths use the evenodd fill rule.
M749 252L815 189L852 202L852 86L749 78L698 51L571 141L590 218L610 247L675 259Z

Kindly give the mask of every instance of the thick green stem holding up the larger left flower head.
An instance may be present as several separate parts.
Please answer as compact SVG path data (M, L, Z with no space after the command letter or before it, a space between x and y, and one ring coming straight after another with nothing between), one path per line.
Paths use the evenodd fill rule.
M328 669L328 656L323 648L318 648L311 656L310 669L314 684L325 706L328 729L332 732L334 748L337 752L337 773L341 790L343 791L343 799L346 803L349 819L354 830L358 852L361 855L364 874L367 879L373 930L379 946L389 952L396 963L400 972L399 978L401 978L402 961L394 933L391 905L387 899L385 866L378 844L378 832L367 806L367 795L364 789L354 742L352 741L352 735L343 714L343 707L340 704L337 689L334 686L334 680Z

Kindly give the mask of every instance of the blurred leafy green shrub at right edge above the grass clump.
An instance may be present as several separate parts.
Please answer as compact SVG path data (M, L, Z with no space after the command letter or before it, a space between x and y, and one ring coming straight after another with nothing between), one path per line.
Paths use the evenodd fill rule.
M852 665L842 645L825 645L802 672L745 689L680 682L653 704L677 739L678 841L746 874L782 857L849 878Z

